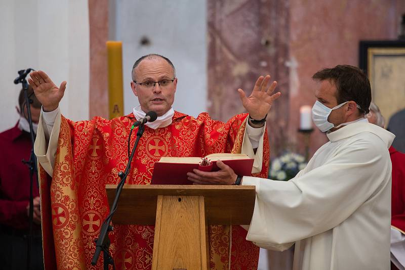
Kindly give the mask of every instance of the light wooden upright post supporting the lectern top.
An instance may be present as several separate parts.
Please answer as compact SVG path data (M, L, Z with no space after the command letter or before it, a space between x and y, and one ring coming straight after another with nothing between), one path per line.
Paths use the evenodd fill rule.
M158 196L152 270L208 269L204 196Z

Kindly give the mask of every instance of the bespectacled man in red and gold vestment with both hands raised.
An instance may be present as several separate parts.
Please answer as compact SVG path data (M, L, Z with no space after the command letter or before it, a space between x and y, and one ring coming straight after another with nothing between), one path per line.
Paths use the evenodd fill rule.
M160 157L203 157L221 152L246 153L255 158L253 175L267 175L269 146L264 122L272 102L280 96L272 94L275 82L267 85L270 76L259 77L249 97L238 89L249 115L236 115L223 123L207 113L194 118L172 109L177 78L169 59L142 57L135 62L132 75L131 87L140 103L133 113L78 122L64 118L59 111L65 81L57 87L43 71L30 75L29 83L43 104L35 154L41 163L46 269L102 267L101 256L96 266L90 261L94 239L109 213L105 185L119 182L117 173L128 162L131 125L145 112L155 111L158 118L146 123L126 184L150 184L153 164ZM210 268L256 269L259 249L246 240L246 234L239 226L211 226ZM153 226L114 224L110 251L117 268L150 269L153 237Z

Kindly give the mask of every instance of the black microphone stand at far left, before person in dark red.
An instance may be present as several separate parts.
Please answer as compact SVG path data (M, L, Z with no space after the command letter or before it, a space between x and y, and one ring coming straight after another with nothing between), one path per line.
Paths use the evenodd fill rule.
M28 250L27 250L27 269L31 268L31 249L32 249L32 224L33 224L33 211L34 211L34 202L33 202L33 176L36 173L36 156L34 154L34 130L32 128L32 118L31 118L31 100L28 98L28 83L25 77L31 72L31 68L26 70L18 71L19 76L14 80L15 84L22 83L22 88L24 90L25 106L27 108L27 116L29 123L29 133L31 137L31 155L28 161L22 160L23 163L27 164L29 168L29 214L28 214L28 223L29 223L29 235L28 235ZM24 110L24 108L21 108ZM23 112L21 112L23 113Z

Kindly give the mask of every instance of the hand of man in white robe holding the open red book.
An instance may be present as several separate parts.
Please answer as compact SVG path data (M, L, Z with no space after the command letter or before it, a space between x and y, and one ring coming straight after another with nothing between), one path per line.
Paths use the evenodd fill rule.
M232 185L236 181L236 173L223 163L217 160L219 171L201 171L193 169L193 172L187 172L189 181L194 182L193 185Z

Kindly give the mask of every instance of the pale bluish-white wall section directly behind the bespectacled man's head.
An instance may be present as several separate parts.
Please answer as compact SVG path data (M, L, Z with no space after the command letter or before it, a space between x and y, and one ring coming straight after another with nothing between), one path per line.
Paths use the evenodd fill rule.
M124 111L138 106L131 90L131 70L141 56L168 57L178 78L174 109L197 116L207 105L206 1L112 0L115 16L110 38L123 41ZM149 46L141 46L146 36Z

